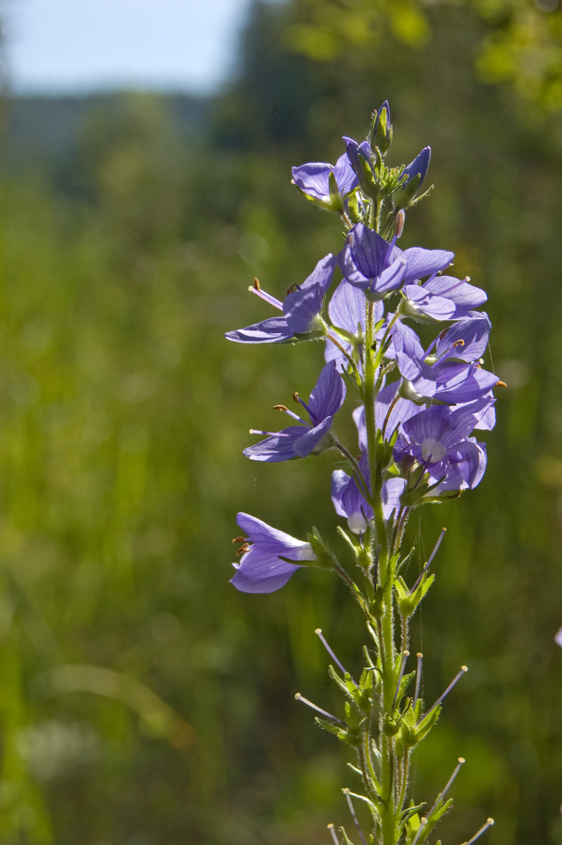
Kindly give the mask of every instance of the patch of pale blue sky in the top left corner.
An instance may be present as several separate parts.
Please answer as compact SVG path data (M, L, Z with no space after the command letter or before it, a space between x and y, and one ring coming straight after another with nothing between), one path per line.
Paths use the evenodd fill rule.
M15 92L209 91L233 65L250 0L3 0Z

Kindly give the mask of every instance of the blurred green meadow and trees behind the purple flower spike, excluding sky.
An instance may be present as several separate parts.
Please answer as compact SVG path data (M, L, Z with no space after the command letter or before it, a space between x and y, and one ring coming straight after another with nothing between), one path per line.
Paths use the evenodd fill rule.
M358 614L319 571L228 584L237 510L334 530L331 455L241 454L322 349L222 335L269 316L254 275L280 296L339 250L290 167L335 161L388 98L390 161L433 149L402 245L454 250L488 291L509 385L481 486L408 526L415 567L448 527L413 626L427 700L470 667L415 797L462 755L444 842L487 815L493 845L562 842L561 57L555 0L255 3L214 97L4 103L0 841L320 845L348 824L346 750L293 694L340 706L314 629L357 671Z

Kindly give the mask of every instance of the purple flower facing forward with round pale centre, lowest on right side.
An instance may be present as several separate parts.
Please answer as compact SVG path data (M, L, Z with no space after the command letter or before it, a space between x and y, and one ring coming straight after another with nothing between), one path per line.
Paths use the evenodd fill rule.
M466 408L454 411L434 405L411 417L402 425L403 434L394 452L398 463L411 455L429 472L429 482L439 480L434 495L445 490L475 488L486 469L485 444L468 439L476 417Z

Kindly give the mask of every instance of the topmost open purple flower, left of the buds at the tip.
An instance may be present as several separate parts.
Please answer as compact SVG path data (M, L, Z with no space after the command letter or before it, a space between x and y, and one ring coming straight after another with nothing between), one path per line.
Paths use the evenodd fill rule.
M314 161L292 168L292 183L320 208L342 211L343 200L359 184L346 153L336 161L336 166L325 161Z

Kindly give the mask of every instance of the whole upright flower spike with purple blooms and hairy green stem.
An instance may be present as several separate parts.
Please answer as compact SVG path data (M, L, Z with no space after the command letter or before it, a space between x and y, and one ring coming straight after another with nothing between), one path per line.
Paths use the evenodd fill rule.
M341 252L320 259L282 302L256 280L250 290L277 313L226 337L237 343L325 342L325 365L308 401L295 393L294 410L276 406L290 424L275 432L251 429L258 439L244 455L279 462L328 449L339 453L345 468L333 472L330 493L346 560L336 558L315 528L306 540L297 539L241 513L232 584L244 592L271 592L298 569L316 566L349 587L367 626L363 671L352 678L318 630L333 660L341 711L330 715L300 694L297 699L355 756L350 766L361 786L344 793L363 845L423 845L450 809L448 793L464 760L431 804L427 796L412 795L412 754L467 667L437 701L423 701L423 656L410 655L408 630L434 580L429 570L443 533L412 583L406 563L414 549L404 553L401 543L412 510L455 499L482 480L486 447L478 432L494 427L493 389L503 383L483 366L490 322L476 309L486 302L485 292L456 278L448 250L397 245L406 210L428 193L419 192L429 148L407 166L386 164L392 140L386 102L374 112L366 140L343 140L346 153L335 166L292 168L303 196L340 218ZM428 346L417 335L420 324L426 324L424 336L427 326L436 333ZM356 404L357 444L343 444L336 434L346 394ZM370 829L359 826L353 800L367 804ZM468 842L492 824L488 819ZM343 827L329 830L339 845L353 842Z

